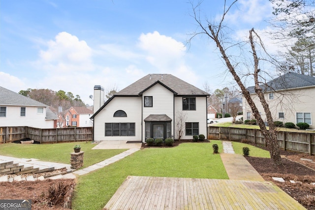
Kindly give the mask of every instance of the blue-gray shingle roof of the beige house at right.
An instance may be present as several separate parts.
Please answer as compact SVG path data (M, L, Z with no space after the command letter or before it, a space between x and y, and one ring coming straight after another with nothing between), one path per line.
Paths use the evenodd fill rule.
M311 77L304 74L297 74L294 72L288 72L270 82L267 85L261 85L263 91L273 91L273 90L286 90L293 88L302 88L315 86L315 77ZM254 86L247 88L250 93L254 93Z

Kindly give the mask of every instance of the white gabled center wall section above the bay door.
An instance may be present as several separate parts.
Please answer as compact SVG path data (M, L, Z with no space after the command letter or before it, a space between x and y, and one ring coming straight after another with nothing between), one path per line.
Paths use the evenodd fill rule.
M145 121L149 115L167 115L172 119L172 134L174 135L174 93L170 90L167 90L160 84L156 84L149 90L146 90L142 94L142 98L144 96L152 96L153 97L153 107L144 107L144 99L142 99L142 107L143 107L143 121L142 121L142 139L145 141ZM139 107L141 108L141 107Z

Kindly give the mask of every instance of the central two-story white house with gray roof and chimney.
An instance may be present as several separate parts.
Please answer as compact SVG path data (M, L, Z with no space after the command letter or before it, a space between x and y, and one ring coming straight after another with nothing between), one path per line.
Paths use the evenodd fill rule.
M95 86L94 141L207 137L209 93L171 74L148 74L100 106L103 95Z

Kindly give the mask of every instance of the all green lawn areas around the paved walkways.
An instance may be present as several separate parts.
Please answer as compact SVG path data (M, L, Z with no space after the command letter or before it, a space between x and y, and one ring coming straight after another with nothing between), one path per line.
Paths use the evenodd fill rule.
M2 144L0 155L36 158L60 163L70 162L70 152L78 143L62 144ZM90 166L125 150L91 150L95 145L79 143L84 153L84 167ZM220 154L213 154L210 143L182 143L174 148L147 148L104 168L79 176L73 197L74 210L102 209L127 176L183 177L228 179ZM250 148L250 156L269 157L269 152L251 145L232 142L236 153L243 154L243 147Z

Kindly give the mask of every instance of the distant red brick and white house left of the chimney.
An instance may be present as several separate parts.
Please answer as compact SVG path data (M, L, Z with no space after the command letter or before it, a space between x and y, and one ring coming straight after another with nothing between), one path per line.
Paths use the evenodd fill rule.
M92 115L93 111L86 107L70 107L60 117L63 117L63 127L92 127Z

